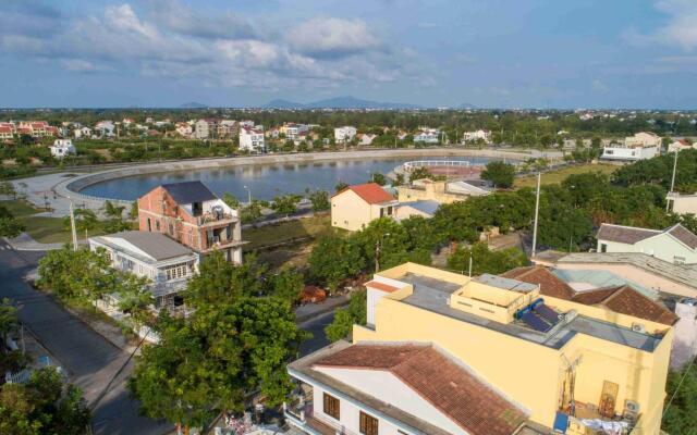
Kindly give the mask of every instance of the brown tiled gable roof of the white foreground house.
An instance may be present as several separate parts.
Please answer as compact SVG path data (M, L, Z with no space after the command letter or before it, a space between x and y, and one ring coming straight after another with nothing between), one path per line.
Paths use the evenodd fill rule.
M430 345L357 344L315 365L389 371L473 435L510 435L525 413Z

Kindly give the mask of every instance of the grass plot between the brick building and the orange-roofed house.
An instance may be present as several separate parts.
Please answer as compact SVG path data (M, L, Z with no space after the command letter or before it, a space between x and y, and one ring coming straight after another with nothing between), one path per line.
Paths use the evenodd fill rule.
M272 225L265 225L259 228L243 229L242 239L249 241L245 245L245 249L250 250L261 246L279 244L299 237L316 238L331 229L330 221L331 217L329 214L322 214Z

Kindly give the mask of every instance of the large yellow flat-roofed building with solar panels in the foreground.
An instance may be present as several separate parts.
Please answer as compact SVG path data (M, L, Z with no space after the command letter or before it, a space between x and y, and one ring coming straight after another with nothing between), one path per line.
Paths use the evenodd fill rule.
M529 421L659 434L671 326L541 297L539 286L405 263L366 284L362 343L431 343L524 407ZM563 423L567 420L567 423Z

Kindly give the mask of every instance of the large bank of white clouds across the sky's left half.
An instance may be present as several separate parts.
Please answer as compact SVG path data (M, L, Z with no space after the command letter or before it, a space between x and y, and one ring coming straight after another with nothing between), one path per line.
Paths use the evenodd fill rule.
M76 73L137 71L206 86L331 88L340 83L421 79L424 69L408 49L384 49L360 20L313 18L288 36L259 32L230 12L204 13L178 2L129 3L65 18L50 36L21 27L0 29L0 53L56 62ZM169 9L168 9L169 7ZM30 16L27 15L27 20Z

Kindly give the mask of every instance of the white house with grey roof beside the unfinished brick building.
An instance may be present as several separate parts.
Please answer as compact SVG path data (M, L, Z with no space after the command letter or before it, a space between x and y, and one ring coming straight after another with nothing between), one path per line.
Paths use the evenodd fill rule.
M198 256L161 233L127 231L89 238L89 249L105 249L111 265L149 279L156 308L182 304L176 294L198 270ZM111 295L118 302L115 295Z

